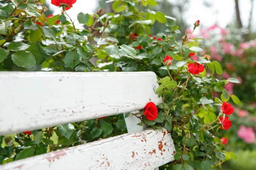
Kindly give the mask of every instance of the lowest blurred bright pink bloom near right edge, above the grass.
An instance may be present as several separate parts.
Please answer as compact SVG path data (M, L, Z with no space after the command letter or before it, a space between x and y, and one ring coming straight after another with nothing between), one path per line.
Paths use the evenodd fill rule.
M255 141L255 133L253 131L253 127L246 128L244 125L242 125L239 127L239 130L236 132L236 134L246 143L252 144Z

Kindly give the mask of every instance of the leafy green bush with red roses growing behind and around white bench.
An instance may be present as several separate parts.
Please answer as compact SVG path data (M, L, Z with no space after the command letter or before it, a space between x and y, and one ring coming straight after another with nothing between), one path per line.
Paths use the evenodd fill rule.
M213 93L229 98L224 87L238 80L216 79L213 74L221 75L223 71L209 56L198 57L198 61L192 59L203 51L198 47L198 39L192 39L199 20L190 34L176 40L181 32L175 19L147 9L157 5L155 0L113 0L115 13L81 12L77 19L87 29L76 29L66 14L75 2L52 0L63 11L50 17L44 15L44 0L0 4L0 71L154 71L159 83L156 94L162 96L163 102L157 107L149 102L135 116L141 116L138 125L164 127L172 134L175 161L160 169L210 170L233 157L233 153L223 150L218 136L213 135L219 128L230 128L225 114L230 115L232 108ZM166 25L167 34L150 35L156 22ZM232 99L240 102L235 95ZM123 114L119 114L33 130L31 134L1 136L0 163L126 132Z

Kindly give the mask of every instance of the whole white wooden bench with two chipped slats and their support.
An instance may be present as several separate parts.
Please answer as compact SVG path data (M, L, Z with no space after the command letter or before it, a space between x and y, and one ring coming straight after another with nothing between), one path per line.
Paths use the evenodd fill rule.
M156 105L153 72L0 72L0 136ZM151 170L174 160L165 129L125 119L128 133L0 165L0 170Z

